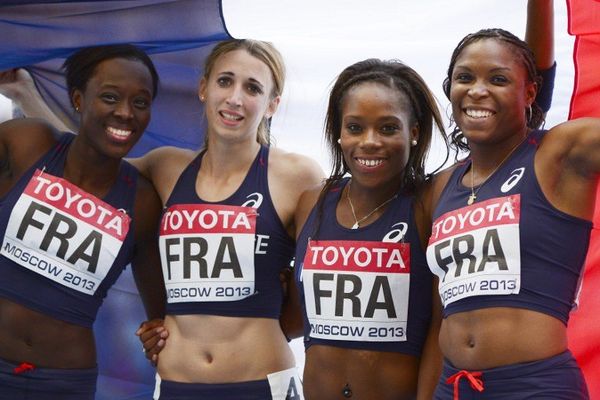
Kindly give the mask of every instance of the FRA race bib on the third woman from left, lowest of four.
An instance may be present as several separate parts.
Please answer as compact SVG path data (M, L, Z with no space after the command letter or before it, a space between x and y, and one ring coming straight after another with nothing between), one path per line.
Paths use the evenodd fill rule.
M302 276L311 337L406 340L408 244L310 241Z

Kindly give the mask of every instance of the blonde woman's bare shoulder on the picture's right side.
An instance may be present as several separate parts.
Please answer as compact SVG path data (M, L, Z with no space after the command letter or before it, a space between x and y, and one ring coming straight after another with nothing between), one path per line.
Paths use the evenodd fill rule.
M323 170L310 157L271 148L269 153L269 173L276 181L299 194L318 185L323 180Z

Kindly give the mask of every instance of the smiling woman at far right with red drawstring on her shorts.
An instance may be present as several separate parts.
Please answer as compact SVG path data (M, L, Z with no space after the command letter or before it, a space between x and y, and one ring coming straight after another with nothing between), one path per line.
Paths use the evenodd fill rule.
M587 399L566 325L578 293L600 173L600 121L539 130L526 43L467 35L444 90L468 157L440 174L427 249L440 280L435 398Z

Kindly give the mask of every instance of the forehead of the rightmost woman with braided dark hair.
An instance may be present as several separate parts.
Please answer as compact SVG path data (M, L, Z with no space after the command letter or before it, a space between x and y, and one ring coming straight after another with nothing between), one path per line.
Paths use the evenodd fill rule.
M455 67L494 66L515 69L524 67L521 55L511 45L498 39L480 39L467 45L456 58Z

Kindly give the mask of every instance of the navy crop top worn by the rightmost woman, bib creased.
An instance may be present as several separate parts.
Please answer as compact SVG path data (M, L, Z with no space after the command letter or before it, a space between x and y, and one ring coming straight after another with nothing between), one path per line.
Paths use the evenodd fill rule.
M576 300L592 223L567 215L544 196L534 158L545 131L533 131L477 190L459 165L433 216L427 248L440 278L444 317L486 307L538 311L567 323Z

